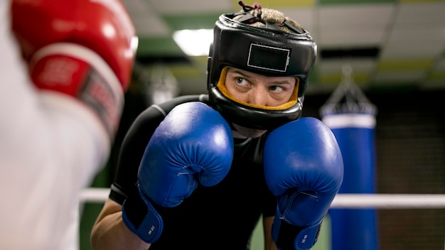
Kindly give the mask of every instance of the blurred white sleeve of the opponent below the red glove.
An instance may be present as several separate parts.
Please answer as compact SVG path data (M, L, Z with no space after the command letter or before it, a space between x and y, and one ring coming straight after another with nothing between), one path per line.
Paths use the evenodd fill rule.
M82 103L34 88L8 9L0 0L0 249L75 249L78 197L111 141Z

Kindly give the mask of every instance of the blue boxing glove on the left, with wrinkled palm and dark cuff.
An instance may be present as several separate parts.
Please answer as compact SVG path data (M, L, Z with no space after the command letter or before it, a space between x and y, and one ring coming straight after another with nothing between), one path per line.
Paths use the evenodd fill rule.
M122 219L140 239L154 243L163 221L156 206L176 207L198 187L218 184L230 170L229 124L201 102L180 104L161 122L139 165L139 195L127 197Z

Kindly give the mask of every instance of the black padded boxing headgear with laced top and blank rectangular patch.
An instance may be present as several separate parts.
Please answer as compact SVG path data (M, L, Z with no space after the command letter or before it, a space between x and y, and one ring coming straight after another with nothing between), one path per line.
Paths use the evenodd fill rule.
M210 103L230 122L252 129L274 129L301 116L304 91L316 58L316 43L308 31L293 26L289 21L269 23L248 12L261 9L261 6L248 7L241 1L240 5L243 6L242 11L223 14L215 23L208 58ZM240 15L237 21L233 20ZM266 27L248 24L256 21L261 21ZM286 26L295 33L281 31L279 26ZM299 80L299 85L296 85L298 98L286 109L263 109L236 102L217 87L225 67L237 67L266 76L296 77Z

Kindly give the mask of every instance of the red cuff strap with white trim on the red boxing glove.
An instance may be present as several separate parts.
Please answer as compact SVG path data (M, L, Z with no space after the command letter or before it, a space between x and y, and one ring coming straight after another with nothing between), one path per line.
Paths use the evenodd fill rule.
M124 108L124 92L119 78L100 55L75 43L54 43L38 50L30 64L36 87L87 104L114 138Z

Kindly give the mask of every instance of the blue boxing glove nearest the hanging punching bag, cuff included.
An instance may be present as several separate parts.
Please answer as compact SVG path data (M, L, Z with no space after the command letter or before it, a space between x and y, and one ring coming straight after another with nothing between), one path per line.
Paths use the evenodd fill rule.
M343 181L333 133L311 117L274 129L264 145L264 175L277 196L272 239L278 249L311 249Z

